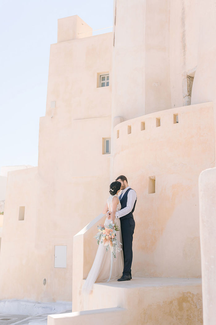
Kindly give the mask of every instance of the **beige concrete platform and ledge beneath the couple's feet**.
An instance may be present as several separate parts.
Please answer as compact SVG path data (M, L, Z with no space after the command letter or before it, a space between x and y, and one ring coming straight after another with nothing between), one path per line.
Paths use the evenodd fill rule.
M104 318L98 311L106 312L113 325L202 325L201 289L201 279L133 278L95 283L87 301L81 295L80 310L73 309L76 313L66 318L64 314L51 315L48 325L78 325L81 315L83 324L101 324ZM112 315L115 308L120 308L116 317Z

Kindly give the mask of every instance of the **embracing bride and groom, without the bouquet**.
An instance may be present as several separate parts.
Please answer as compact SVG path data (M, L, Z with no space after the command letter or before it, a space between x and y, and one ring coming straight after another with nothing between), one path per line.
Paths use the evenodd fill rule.
M120 190L121 194L118 196ZM116 239L119 247L122 244L122 249L119 249L114 257L102 241L99 243L94 263L83 286L83 292L91 292L95 282L108 282L110 279L118 279L118 281L132 279L132 240L135 228L133 211L137 195L128 185L128 180L124 175L120 175L115 182L110 184L109 193L110 196L103 210L103 213L107 215L104 227L109 228L110 224L118 226L119 231L116 231Z

